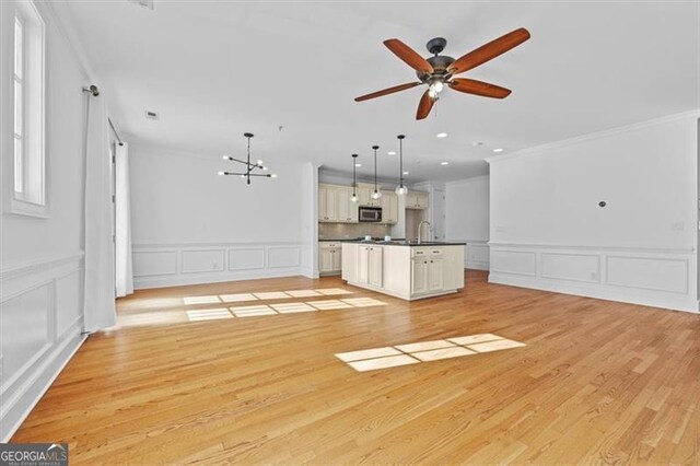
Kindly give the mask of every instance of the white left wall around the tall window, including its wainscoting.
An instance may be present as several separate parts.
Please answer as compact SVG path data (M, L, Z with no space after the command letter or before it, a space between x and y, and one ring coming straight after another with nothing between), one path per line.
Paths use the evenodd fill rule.
M83 105L91 84L51 7L46 22L46 180L49 218L2 212L0 441L19 427L83 340ZM3 206L12 195L14 2L0 2Z

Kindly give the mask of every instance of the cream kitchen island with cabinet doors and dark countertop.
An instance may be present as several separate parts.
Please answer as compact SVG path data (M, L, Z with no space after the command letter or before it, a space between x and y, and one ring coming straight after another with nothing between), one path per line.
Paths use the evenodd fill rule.
M343 242L342 279L413 301L464 288L465 243Z

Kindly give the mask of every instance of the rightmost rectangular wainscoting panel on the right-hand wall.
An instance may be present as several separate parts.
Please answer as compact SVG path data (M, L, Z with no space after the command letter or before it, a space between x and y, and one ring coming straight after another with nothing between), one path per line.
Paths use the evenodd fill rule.
M607 256L607 283L641 290L688 292L688 259Z

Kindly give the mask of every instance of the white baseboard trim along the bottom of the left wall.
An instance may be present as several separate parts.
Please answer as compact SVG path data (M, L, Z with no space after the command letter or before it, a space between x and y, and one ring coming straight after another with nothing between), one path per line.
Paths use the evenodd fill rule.
M56 348L54 354L37 368L35 374L25 382L24 386L18 389L18 394L12 395L10 400L3 401L5 409L0 413L0 442L8 443L12 439L12 435L30 416L86 338L88 335L81 334L80 326L77 326L74 335L66 338ZM36 389L37 387L38 389ZM10 427L7 428L7 426Z

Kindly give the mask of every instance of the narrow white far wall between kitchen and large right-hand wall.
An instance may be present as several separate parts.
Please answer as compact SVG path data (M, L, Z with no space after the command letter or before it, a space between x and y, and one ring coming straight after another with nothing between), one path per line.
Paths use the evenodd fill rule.
M489 177L478 176L445 186L447 237L467 242L465 267L489 269Z

